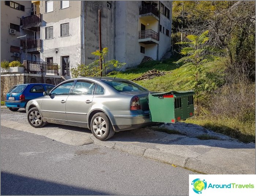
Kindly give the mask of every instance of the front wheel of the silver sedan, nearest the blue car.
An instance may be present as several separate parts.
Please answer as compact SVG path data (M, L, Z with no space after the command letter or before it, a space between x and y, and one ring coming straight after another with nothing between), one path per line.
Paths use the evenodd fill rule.
M37 107L31 108L27 112L27 121L29 122L29 124L32 127L35 127L35 128L40 128L40 127L45 126L45 124L47 124L46 122L44 122L42 120L42 115L40 114L40 112L37 109Z

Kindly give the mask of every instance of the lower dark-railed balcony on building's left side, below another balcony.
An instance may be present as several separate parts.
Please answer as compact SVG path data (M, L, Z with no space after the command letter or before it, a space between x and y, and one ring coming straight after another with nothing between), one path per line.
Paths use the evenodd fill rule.
M28 38L27 39L27 53L39 54L41 50L42 40ZM26 39L21 39L21 51L26 52Z

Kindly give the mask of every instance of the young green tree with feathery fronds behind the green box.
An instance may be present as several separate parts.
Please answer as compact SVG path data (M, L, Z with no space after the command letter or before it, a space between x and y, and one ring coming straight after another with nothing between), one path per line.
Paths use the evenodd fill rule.
M186 42L175 44L183 46L180 54L185 55L176 64L182 64L174 71L177 84L182 90L193 89L195 92L197 113L199 115L199 98L205 93L210 93L222 84L222 74L210 72L209 62L222 60L219 55L223 52L214 46L207 45L209 31L200 35L187 35Z

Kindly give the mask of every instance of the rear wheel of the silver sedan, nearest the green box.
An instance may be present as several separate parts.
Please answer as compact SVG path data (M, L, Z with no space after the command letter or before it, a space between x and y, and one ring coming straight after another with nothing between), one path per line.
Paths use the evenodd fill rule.
M94 137L99 140L110 139L115 134L110 119L103 112L98 112L93 115L90 128Z

